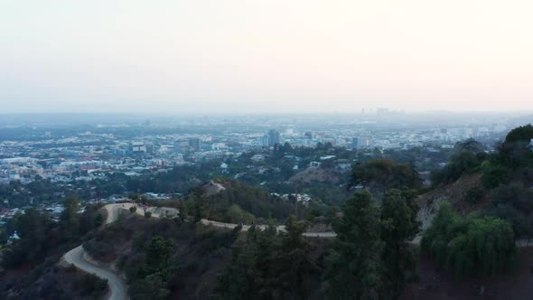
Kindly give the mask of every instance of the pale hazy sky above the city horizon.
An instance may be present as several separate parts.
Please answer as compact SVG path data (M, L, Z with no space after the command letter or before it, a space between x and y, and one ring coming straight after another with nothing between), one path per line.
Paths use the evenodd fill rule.
M532 110L533 1L0 0L0 113Z

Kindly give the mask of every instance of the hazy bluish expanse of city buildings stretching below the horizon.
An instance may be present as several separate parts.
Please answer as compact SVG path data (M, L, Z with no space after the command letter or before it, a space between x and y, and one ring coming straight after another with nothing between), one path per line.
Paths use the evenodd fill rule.
M372 116L388 117L391 114L393 112L379 109ZM139 132L136 135L120 135L117 127L112 126L108 132L106 127L94 127L98 133L91 132L88 126L79 129L79 132L71 131L73 133L69 136L46 128L39 137L31 135L35 129L32 128L28 129L31 136L28 139L0 137L0 184L10 181L29 183L41 177L54 182L91 180L108 172L136 176L285 143L303 147L331 144L355 150L453 147L457 141L466 138L490 138L503 135L510 129L502 124L390 126L380 124L379 119L328 122L317 126L311 121L249 118L240 122L228 120L226 123L203 125L201 130L195 131L199 126L196 122L188 125L187 133L183 134L173 134L169 127L160 127L158 132L158 128L150 123L145 125L150 127L150 134ZM122 127L126 132L129 130L127 126Z

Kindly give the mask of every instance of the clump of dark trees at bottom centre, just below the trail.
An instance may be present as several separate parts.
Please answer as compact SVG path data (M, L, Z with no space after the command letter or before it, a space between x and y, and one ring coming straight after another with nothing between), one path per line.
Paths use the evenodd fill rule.
M250 228L244 244L233 248L219 276L215 299L308 299L319 268L309 258L304 222L291 217L286 232Z

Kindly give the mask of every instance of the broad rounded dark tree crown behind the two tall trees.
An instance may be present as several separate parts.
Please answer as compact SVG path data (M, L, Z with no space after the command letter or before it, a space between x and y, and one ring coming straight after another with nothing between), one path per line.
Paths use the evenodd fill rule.
M351 185L359 184L364 187L377 185L384 189L422 187L422 181L413 165L390 159L375 159L356 165L351 173Z

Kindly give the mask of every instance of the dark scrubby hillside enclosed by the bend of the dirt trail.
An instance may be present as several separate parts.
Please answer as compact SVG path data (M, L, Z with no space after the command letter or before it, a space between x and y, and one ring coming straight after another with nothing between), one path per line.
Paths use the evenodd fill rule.
M142 299L144 292L142 275L150 264L149 248L154 237L173 241L168 264L172 268L169 277L171 299L209 299L218 275L229 264L231 248L246 239L246 233L235 230L204 226L201 224L178 225L171 219L146 219L138 214L126 215L99 231L84 247L91 257L101 263L115 266L126 276L130 295ZM319 259L331 239L310 239L312 257ZM147 252L148 251L148 252ZM319 286L317 286L319 287ZM315 293L318 293L316 290ZM320 299L313 296L311 299Z

